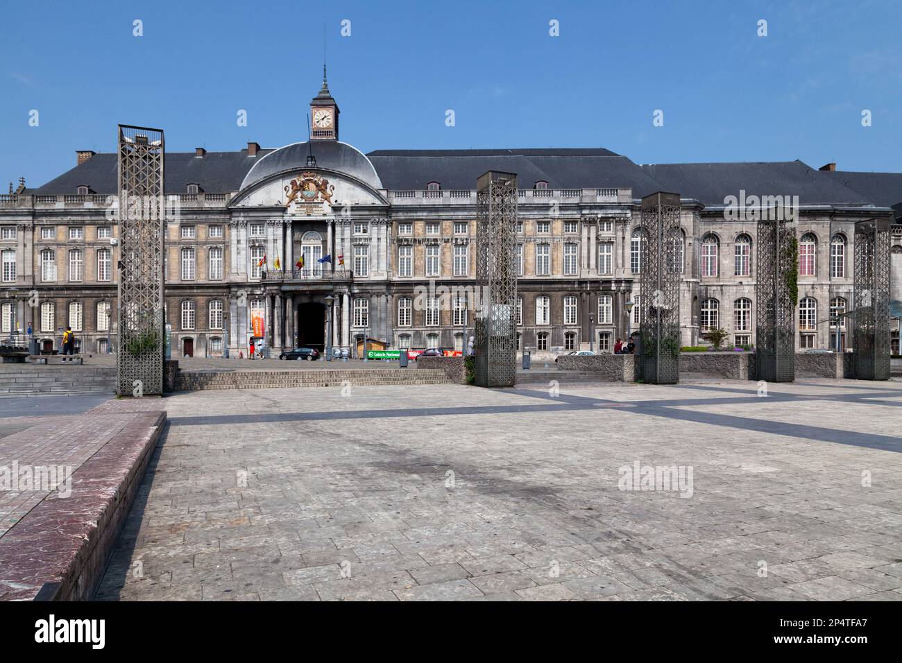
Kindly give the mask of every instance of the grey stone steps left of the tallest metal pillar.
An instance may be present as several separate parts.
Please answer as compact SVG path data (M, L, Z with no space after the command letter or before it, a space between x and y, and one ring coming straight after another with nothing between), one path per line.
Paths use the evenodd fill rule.
M115 366L0 364L0 398L92 393L112 396L114 391Z

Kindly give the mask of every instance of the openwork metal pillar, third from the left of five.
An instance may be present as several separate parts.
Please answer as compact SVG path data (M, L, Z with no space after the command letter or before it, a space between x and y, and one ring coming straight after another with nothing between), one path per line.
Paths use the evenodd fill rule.
M652 384L679 382L679 211L678 193L642 198L640 375Z

